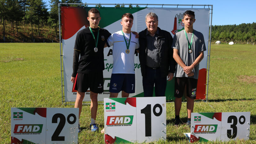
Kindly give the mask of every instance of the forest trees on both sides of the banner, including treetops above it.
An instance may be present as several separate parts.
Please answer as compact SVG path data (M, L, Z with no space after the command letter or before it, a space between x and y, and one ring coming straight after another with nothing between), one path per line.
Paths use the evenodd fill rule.
M10 42L20 39L23 42L37 42L38 39L58 41L59 15L58 3L82 3L81 0L49 0L48 6L43 0L0 0L0 41ZM65 5L67 6L67 5ZM70 5L82 6L88 5ZM100 4L95 7L101 7ZM124 5L116 5L124 7ZM132 5L129 5L132 7ZM136 5L135 7L139 7ZM25 41L24 41L25 39ZM240 25L212 26L212 42L255 43L256 23ZM15 40L13 40L15 42ZM19 42L19 41L16 41ZM42 42L42 41L41 41Z

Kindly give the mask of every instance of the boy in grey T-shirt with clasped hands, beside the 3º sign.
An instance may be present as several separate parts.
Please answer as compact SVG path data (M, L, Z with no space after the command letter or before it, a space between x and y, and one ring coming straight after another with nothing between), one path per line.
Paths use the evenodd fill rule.
M182 22L185 29L176 33L172 41L173 58L177 62L174 75L175 126L180 124L181 98L186 91L187 125L190 127L191 112L196 99L199 62L204 58L204 51L206 51L203 34L193 29L195 20L195 12L184 12Z

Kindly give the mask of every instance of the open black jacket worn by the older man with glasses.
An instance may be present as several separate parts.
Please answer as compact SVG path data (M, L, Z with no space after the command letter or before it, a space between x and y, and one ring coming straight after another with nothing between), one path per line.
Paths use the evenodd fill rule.
M159 36L157 37L157 45L155 47L159 50L159 57L160 57L160 70L161 70L161 77L165 77L168 75L169 72L175 72L176 62L173 59L173 49L172 47L172 36L168 31L161 30L159 27ZM146 32L148 28L141 31L139 33L139 42L140 42L140 69L141 75L145 76L146 71L146 57L147 57L147 38Z

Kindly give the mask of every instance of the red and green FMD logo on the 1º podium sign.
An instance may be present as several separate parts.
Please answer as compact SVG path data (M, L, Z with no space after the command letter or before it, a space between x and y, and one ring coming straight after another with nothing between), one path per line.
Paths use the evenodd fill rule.
M107 125L132 124L133 116L108 116Z

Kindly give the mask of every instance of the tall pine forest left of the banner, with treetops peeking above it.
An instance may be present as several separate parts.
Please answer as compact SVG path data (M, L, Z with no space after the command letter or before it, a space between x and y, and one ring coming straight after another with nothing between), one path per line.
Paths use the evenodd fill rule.
M0 0L0 42L58 42L58 3L82 3L82 1L49 0L49 3L48 9L48 5L43 0ZM65 6L87 7L88 5L65 4ZM95 7L101 7L101 4ZM117 4L115 7L125 6ZM130 4L129 7L133 6Z

